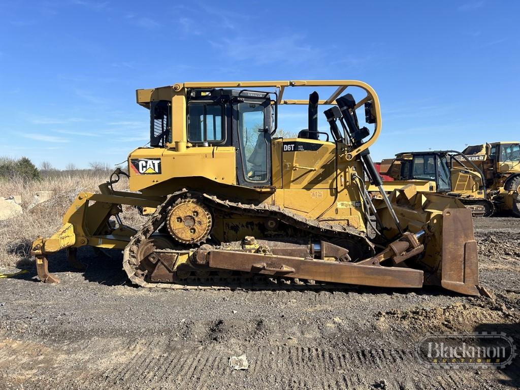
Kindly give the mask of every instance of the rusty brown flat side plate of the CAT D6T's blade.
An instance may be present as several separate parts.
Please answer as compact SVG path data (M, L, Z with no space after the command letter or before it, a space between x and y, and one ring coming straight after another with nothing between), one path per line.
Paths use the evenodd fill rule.
M441 285L466 295L479 295L477 242L470 209L443 212Z

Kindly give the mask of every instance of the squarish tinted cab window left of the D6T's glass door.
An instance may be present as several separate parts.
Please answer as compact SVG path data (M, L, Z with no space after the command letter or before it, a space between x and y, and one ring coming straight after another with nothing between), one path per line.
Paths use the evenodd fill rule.
M188 104L188 141L220 144L225 139L224 107L207 103Z

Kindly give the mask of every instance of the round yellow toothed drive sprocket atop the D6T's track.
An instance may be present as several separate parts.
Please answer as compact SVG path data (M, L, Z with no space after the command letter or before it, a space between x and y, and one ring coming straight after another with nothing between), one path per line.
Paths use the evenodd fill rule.
M166 227L174 240L198 245L209 237L213 226L210 210L196 199L179 199L168 213Z

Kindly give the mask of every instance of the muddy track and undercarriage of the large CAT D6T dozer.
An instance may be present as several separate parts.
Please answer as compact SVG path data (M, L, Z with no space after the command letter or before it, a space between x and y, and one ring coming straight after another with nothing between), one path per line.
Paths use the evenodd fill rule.
M257 240L246 236L236 242L210 238L215 214L217 220L248 216L251 233L261 232L262 237L266 238ZM176 223L182 227L175 229L172 225ZM164 226L170 234L160 233ZM213 245L198 247L206 240ZM207 256L210 252L240 253L242 257L254 255L258 259L257 275L253 277L249 270L212 267ZM265 203L244 205L209 194L182 190L159 205L148 222L132 237L124 250L123 265L132 282L146 287L189 289L216 288L220 285L222 288L266 288L270 285L276 288L277 282L285 287L289 284L317 284L314 280L309 282L307 279L288 277L290 271L294 272L293 268L269 267L268 263L272 263L275 256L353 262L359 261L363 254L374 253L373 244L365 236L340 224L319 223Z

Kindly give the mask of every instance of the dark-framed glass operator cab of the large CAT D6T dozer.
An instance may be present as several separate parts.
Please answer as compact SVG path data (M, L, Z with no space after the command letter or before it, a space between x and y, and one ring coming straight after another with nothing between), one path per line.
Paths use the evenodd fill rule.
M271 93L235 89L188 89L187 141L191 147L235 147L241 186L270 185L270 142L275 129ZM170 102L150 106L150 146L172 142Z

